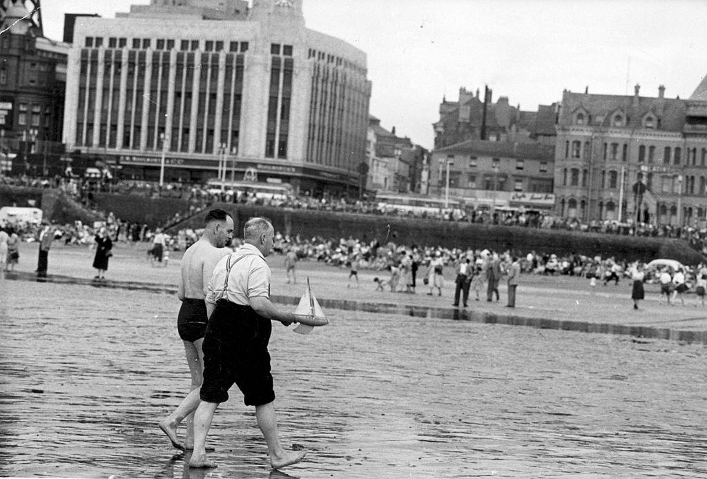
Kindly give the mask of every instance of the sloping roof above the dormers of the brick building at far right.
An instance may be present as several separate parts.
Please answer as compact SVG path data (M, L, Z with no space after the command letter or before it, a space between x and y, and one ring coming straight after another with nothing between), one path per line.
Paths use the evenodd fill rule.
M685 121L683 100L639 96L638 106L634 106L634 98L633 95L592 95L565 91L558 124L572 124L573 114L582 108L589 114L590 126L609 126L611 114L621 110L629 119L626 128L640 129L644 115L653 112L660 119L661 130L682 131Z

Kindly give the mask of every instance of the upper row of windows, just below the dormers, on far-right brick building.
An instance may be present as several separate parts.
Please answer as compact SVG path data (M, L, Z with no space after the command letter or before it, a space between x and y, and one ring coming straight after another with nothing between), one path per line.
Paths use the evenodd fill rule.
M658 158L658 147L655 145L639 145L638 146L638 162L662 162L664 165L680 165L682 162L682 148L676 146L674 148L666 146L662 149L662 157ZM699 152L697 148L687 148L686 165L706 166L707 165L707 148L702 148ZM581 141L565 142L565 158L588 160L591 155L590 142L584 142L582 148ZM629 145L628 143L604 143L602 151L602 159L610 161L628 160Z

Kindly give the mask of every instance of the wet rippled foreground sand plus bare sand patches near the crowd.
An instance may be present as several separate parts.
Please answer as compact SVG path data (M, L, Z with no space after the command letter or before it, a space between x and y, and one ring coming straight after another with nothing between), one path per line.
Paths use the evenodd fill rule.
M108 278L169 284L164 278L179 271L177 261L151 268L136 253L119 250ZM49 273L86 277L90 259L85 250L52 249ZM28 251L23 260L36 256ZM322 291L334 294L332 283L343 278L339 298L378 299L364 275L349 291L346 271L321 271ZM302 288L283 283L274 279L274 293ZM380 294L394 304L429 300ZM437 301L449 302L449 294ZM617 294L629 309L623 293L604 294L597 302L605 307ZM281 437L309 449L305 461L271 475L254 410L232 389L209 437L218 468L189 471L157 427L189 387L178 306L172 292L3 280L0 475L707 475L703 345L337 309L327 309L332 323L310 336L274 326Z

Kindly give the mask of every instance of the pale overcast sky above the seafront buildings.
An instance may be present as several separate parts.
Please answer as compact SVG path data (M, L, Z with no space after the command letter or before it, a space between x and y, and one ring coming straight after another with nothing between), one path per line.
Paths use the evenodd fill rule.
M64 13L113 18L148 0L41 0L45 36ZM707 74L704 0L304 0L307 28L368 56L370 114L425 148L446 97L493 90L537 111L563 90L689 97Z

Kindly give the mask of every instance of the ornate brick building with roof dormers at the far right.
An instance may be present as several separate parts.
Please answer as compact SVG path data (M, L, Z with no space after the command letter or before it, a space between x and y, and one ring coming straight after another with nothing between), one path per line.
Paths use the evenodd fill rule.
M565 218L697 225L707 213L707 101L563 93L556 213Z

